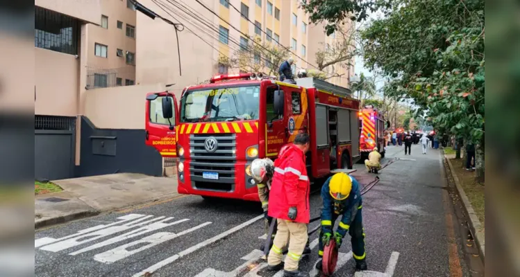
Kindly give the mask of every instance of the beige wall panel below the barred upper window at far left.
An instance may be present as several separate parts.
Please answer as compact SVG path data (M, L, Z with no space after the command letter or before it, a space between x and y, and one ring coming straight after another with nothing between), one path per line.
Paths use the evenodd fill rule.
M76 116L79 59L74 55L34 48L36 100L34 113Z

